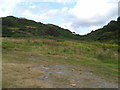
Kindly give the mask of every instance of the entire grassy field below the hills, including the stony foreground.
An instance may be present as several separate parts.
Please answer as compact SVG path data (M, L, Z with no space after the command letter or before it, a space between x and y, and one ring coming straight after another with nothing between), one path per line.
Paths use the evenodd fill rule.
M40 38L2 44L3 88L117 88L116 44Z

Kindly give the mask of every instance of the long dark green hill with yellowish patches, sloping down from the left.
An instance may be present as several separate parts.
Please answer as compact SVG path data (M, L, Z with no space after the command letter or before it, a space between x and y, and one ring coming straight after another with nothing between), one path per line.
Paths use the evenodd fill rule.
M73 35L67 29L63 29L53 24L43 24L27 20L25 18L16 18L13 16L2 18L3 37L59 37L59 38L79 38Z

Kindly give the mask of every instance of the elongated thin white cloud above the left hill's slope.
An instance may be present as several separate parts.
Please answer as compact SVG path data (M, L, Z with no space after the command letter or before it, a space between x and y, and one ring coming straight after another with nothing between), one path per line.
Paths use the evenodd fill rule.
M26 17L28 19L40 21L40 20L64 17L67 10L68 10L68 8L66 8L66 7L61 8L61 9L49 9L49 10L44 9L44 10L38 11L38 13L34 13L34 12L32 12L32 10L25 10L22 13L22 16Z

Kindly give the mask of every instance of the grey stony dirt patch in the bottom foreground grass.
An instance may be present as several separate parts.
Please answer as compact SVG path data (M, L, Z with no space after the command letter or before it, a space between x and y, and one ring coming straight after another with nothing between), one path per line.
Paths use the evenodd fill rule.
M91 72L76 70L71 65L54 64L29 67L29 70L43 71L37 79L47 82L54 88L117 88L117 83L110 83Z

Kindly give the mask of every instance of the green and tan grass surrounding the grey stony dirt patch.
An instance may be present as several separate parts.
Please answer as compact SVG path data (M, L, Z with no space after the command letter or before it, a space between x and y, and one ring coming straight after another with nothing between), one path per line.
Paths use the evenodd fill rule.
M34 78L34 75L42 72L31 73L26 69L39 63L71 64L77 68L85 68L108 81L117 82L118 45L116 44L42 38L3 38L2 49L3 87L51 87L47 83L43 85L42 81ZM31 61L31 58L39 60ZM32 83L28 85L27 82Z

